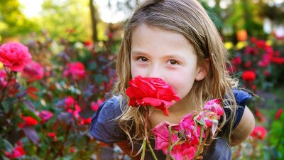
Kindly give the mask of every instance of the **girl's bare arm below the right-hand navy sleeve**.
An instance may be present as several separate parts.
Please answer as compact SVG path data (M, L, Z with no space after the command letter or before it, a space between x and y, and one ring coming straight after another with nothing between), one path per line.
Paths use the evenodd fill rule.
M253 132L255 125L255 120L251 110L248 107L245 107L244 114L241 117L241 121L238 126L232 131L231 134L231 146L236 146L241 142L244 142Z

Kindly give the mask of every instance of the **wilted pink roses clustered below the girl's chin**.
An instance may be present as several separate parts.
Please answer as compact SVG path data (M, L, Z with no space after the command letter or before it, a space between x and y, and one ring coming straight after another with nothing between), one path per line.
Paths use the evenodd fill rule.
M164 154L170 154L177 160L200 158L209 128L212 128L214 137L219 119L224 114L220 102L219 99L210 100L204 105L202 112L197 115L187 114L179 124L164 121L151 129L155 136L155 149L162 150Z

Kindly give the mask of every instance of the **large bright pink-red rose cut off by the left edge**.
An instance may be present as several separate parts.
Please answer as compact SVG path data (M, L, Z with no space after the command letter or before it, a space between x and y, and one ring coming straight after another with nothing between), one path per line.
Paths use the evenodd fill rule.
M30 61L31 54L28 48L21 43L4 43L0 47L0 62L12 71L21 72Z

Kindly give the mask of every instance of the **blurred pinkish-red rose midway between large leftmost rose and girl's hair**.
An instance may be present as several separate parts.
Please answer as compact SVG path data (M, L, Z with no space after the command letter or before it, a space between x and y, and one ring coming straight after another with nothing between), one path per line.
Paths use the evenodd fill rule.
M71 75L74 80L82 80L86 76L84 65L80 62L68 63L67 69L63 71L63 75Z

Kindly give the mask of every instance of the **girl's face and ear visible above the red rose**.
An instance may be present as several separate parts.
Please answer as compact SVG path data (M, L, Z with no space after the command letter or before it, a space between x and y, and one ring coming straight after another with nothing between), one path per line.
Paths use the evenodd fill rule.
M132 34L131 76L162 78L182 99L195 80L202 80L197 56L179 33L141 24Z

